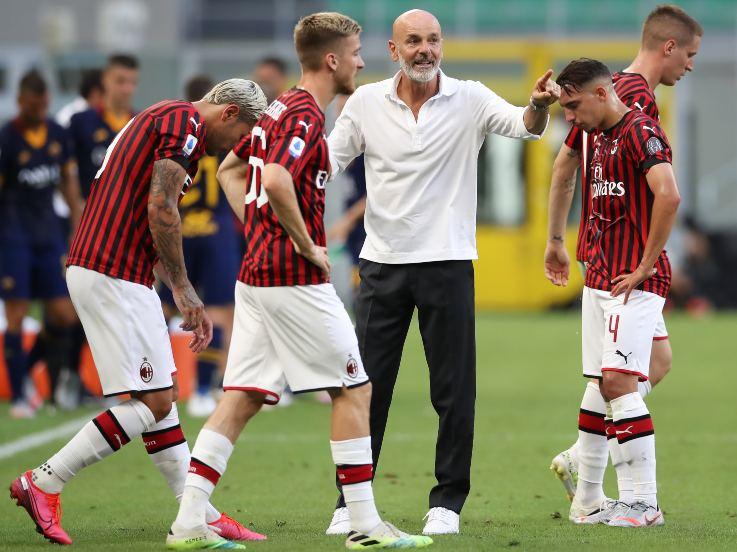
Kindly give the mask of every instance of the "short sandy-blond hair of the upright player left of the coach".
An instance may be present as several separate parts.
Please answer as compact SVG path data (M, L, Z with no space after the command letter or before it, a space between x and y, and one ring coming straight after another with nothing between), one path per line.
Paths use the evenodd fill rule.
M361 32L361 26L347 15L319 12L306 15L294 27L294 47L304 69L317 71L322 57L343 38Z

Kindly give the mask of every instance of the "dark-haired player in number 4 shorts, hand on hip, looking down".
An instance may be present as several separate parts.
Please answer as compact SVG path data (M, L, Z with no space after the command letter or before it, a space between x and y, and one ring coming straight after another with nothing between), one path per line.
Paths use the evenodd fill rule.
M591 204L582 304L583 374L599 380L612 419L609 433L632 477L629 503L606 505L611 511L598 521L625 527L661 525L653 422L637 385L648 379L653 337L670 287L663 247L680 203L671 149L657 121L622 103L603 63L572 61L557 82L566 120L586 132L597 131L586 175ZM594 509L583 517L600 508L590 506Z

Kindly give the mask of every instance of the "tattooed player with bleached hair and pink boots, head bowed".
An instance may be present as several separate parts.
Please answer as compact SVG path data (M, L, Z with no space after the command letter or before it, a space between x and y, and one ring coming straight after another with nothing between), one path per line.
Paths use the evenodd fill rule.
M165 100L118 133L97 172L67 259L67 285L92 349L106 396L130 394L85 425L56 454L11 485L39 532L71 544L60 524L59 493L83 468L138 436L179 498L189 449L179 426L171 342L153 290L154 266L169 282L199 353L212 323L187 278L177 203L197 161L235 146L266 107L258 86L242 79L216 85L202 100ZM205 504L206 521L243 538L238 522Z

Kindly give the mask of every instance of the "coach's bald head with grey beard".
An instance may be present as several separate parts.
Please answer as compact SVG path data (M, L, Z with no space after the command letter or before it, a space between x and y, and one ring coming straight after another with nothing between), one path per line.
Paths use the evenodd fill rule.
M392 25L389 52L410 80L432 81L438 75L443 57L443 38L437 18L425 10L404 12Z

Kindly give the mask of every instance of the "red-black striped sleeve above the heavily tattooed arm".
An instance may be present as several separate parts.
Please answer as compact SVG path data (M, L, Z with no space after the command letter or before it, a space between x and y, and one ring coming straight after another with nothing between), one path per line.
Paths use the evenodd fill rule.
M154 161L171 159L184 169L189 168L201 139L202 123L197 111L191 107L176 107L157 117L154 124L159 135Z

